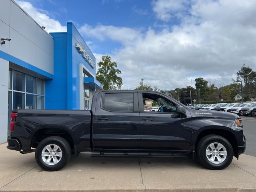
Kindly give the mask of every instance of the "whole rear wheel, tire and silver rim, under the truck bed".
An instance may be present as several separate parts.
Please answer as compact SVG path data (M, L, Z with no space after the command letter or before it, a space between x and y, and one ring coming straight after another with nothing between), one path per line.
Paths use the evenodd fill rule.
M36 162L46 171L58 171L70 159L70 144L62 137L50 136L42 140L36 148Z

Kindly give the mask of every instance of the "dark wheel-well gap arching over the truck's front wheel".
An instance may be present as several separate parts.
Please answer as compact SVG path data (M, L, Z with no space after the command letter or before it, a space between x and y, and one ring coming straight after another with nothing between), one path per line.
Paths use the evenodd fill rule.
M230 142L230 144L232 145L234 155L236 155L238 153L236 137L231 132L229 132L227 130L222 130L222 129L207 129L207 130L200 132L200 134L198 135L198 137L196 139L196 147L197 147L197 143L200 141L201 138L203 138L206 135L212 135L212 134L220 135L220 136L226 138L226 140L228 140L228 142Z

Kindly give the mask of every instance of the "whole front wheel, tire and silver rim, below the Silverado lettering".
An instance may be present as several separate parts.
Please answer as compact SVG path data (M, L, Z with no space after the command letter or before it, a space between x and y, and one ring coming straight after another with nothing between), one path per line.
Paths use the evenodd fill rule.
M233 154L230 142L219 135L204 136L197 144L199 161L209 169L226 168L232 162Z

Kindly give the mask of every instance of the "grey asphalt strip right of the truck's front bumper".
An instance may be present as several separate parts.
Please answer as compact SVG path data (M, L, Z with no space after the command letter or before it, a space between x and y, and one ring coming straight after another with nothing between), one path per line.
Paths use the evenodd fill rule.
M256 157L256 117L241 116L246 138L246 150L244 154Z

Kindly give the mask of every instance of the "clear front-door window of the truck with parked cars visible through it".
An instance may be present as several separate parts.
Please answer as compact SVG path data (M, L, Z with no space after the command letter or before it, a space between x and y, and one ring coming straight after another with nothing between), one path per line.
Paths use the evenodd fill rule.
M158 108L158 110L152 110L146 108L144 112L162 112L162 113L176 113L176 104L170 100L157 95L157 94L142 94L144 107L147 106L147 102L151 101L152 106Z

